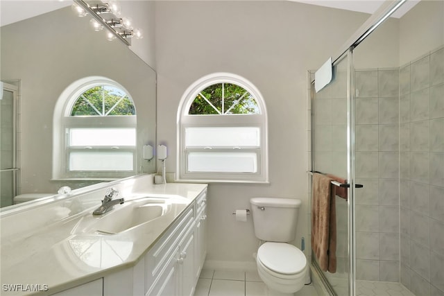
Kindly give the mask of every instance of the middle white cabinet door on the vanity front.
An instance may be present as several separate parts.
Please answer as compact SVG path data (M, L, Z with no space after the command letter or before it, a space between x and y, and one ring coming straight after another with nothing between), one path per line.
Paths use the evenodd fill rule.
M180 245L179 263L181 274L181 295L192 296L196 286L195 262L194 262L194 231L189 232L185 236L184 241Z

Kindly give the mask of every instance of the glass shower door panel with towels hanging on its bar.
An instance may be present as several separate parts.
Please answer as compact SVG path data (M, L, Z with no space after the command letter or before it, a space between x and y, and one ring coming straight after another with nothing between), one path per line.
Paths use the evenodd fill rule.
M351 180L351 131L349 116L352 106L348 103L350 83L350 57L345 53L333 64L333 78L327 86L319 92L312 91L312 164L313 172L330 174L344 180ZM345 182L346 183L346 182ZM332 186L335 186L332 184ZM337 188L337 187L336 187ZM316 262L316 255L312 254L314 265L324 281L325 286L334 295L352 295L352 273L350 269L350 252L352 243L349 243L352 228L350 200L352 192L347 187L344 190L348 198L336 195L336 270L322 271ZM337 194L337 190L336 190ZM350 214L349 214L350 213ZM351 281L351 284L350 284Z

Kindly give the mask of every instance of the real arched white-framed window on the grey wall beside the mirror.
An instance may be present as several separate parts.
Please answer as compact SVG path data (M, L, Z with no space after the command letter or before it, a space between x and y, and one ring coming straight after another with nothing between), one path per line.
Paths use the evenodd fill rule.
M268 181L266 108L251 82L205 76L187 89L178 112L180 180Z

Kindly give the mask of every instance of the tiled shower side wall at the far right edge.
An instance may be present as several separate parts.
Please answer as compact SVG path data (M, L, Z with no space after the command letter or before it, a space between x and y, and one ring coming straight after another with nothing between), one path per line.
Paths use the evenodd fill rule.
M400 67L400 281L444 295L444 47Z

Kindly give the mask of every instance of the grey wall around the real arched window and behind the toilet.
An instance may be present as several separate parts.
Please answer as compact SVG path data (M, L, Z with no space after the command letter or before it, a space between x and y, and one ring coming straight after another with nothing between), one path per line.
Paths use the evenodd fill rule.
M317 69L368 15L290 1L158 1L156 3L157 139L176 170L176 116L191 83L209 73L244 76L268 111L270 184L210 184L208 264L255 266L257 239L250 208L258 196L302 200L296 245L309 254L307 194L307 69ZM243 265L242 265L243 266Z

